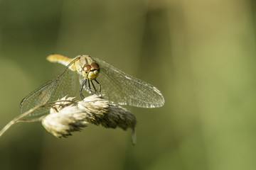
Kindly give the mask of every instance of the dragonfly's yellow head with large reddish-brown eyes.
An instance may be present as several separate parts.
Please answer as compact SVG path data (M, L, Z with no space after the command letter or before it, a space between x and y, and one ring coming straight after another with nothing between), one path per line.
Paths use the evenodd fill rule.
M89 80L94 80L100 73L100 66L96 62L92 62L91 64L85 64L82 67L82 76L88 78Z

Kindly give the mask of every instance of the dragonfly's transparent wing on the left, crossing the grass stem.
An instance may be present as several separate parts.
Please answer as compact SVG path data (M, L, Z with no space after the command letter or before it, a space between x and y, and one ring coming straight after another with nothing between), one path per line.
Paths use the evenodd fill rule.
M69 66L70 64L56 77L23 98L20 106L21 113L25 113L35 106L56 101L64 96L75 96L76 91L78 91L78 74L68 69ZM26 119L37 118L49 113L49 111L49 108L39 108L26 116Z

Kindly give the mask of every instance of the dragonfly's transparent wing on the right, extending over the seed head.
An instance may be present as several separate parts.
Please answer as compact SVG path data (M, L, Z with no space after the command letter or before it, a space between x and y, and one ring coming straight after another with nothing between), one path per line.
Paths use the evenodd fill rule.
M159 89L130 76L107 62L92 58L100 65L97 81L102 86L105 98L120 105L156 108L164 105L164 96Z

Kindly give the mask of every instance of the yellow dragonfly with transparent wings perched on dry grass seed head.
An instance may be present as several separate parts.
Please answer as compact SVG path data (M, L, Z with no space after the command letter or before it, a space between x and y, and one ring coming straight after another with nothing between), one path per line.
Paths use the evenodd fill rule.
M164 96L155 86L113 67L89 55L78 55L75 58L53 54L47 57L50 62L65 65L57 76L47 81L21 101L21 113L56 101L64 96L73 97L78 92L76 88L80 82L80 97L83 99L83 90L88 94L98 94L111 103L129 105L141 108L157 108L164 105ZM30 117L49 113L48 109L40 108Z

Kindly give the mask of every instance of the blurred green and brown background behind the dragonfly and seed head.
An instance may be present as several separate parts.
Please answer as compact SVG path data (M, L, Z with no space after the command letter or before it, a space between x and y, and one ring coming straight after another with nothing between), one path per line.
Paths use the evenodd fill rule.
M51 53L100 58L164 94L129 108L131 130L90 126L68 139L19 123L0 169L256 169L255 2L0 1L0 128L63 68Z

